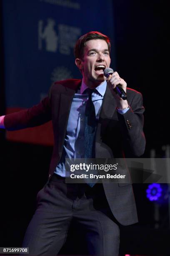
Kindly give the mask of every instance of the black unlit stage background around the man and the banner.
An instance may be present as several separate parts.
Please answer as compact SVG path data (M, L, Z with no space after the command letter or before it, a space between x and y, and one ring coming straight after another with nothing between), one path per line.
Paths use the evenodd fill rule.
M87 10L88 2L90 1L87 1ZM97 18L100 19L104 10L102 6L96 8ZM87 10L85 9L86 12ZM144 132L147 140L145 158L150 157L152 149L155 150L156 157L165 157L163 146L170 145L168 10L168 4L163 0L115 0L112 1L114 22L107 24L114 30L115 49L112 54L117 72L127 81L128 87L143 94ZM2 15L0 17L2 19ZM7 106L2 22L0 26L0 115L4 115ZM93 30L89 28L87 31ZM101 32L105 33L104 29ZM31 98L31 95L28 97ZM37 192L47 180L51 154L52 146L9 141L5 131L0 130L0 247L21 246L25 230L35 211ZM154 203L146 198L147 186L148 184L133 185L139 223L120 227L120 254L170 255L168 205L160 207L160 221L158 228L155 228ZM75 238L77 239L76 230L72 229L71 232L61 253L80 252L81 246L76 249L73 246Z

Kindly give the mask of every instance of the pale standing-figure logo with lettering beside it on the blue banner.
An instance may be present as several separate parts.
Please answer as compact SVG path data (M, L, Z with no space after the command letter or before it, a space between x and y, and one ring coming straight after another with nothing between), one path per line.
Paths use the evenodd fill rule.
M48 18L38 22L38 49L70 55L75 43L81 35L81 29L65 24L58 24L56 32L55 20Z

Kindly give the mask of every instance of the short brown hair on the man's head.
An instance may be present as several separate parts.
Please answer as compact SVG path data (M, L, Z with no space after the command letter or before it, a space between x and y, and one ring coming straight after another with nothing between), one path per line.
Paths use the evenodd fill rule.
M93 40L93 39L105 40L108 45L108 50L109 50L109 54L110 54L110 48L111 48L110 38L108 38L108 36L105 36L98 31L90 31L90 32L86 33L85 35L81 36L77 40L77 42L75 44L75 48L74 48L75 58L79 58L79 59L83 58L85 43L87 41Z

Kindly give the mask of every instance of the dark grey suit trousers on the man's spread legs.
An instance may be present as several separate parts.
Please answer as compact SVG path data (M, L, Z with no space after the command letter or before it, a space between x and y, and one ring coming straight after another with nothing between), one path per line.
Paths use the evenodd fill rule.
M120 229L102 184L67 184L57 174L37 194L37 210L28 225L23 247L29 247L29 255L57 255L72 223L77 230L75 247L76 237L81 237L87 255L118 255Z

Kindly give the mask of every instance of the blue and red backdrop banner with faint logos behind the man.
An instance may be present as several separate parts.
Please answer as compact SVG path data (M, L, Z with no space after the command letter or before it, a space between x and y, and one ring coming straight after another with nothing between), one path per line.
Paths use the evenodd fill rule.
M112 1L3 0L5 95L7 113L36 105L54 81L81 78L74 45L88 31L100 31L112 43ZM12 141L53 144L52 125L7 132Z

